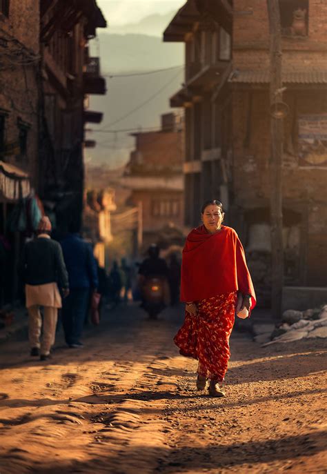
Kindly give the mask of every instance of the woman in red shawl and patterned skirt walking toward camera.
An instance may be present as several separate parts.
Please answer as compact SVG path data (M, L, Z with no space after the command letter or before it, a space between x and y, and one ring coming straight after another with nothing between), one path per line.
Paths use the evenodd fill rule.
M221 225L221 202L206 201L201 219L203 225L188 234L183 250L181 301L186 302L186 314L174 342L181 355L199 361L197 389L224 397L218 382L227 371L235 311L247 308L250 314L255 290L237 233Z

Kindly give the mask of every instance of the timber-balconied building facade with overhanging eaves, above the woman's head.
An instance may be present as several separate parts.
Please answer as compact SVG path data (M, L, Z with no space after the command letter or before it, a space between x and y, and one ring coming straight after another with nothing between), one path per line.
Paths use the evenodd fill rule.
M219 3L219 2L217 2ZM188 1L164 32L165 41L186 43L185 83L171 99L185 110L185 224L197 226L201 203L222 196L230 179L230 97L226 77L231 63L231 12L219 22Z

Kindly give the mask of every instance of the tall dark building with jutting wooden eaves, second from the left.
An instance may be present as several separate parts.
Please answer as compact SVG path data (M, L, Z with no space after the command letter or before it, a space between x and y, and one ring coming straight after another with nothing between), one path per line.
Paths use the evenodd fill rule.
M48 212L54 210L59 230L65 230L72 215L81 225L84 123L102 118L84 109L87 95L106 94L99 58L88 55L88 40L106 20L94 0L41 5L40 194Z

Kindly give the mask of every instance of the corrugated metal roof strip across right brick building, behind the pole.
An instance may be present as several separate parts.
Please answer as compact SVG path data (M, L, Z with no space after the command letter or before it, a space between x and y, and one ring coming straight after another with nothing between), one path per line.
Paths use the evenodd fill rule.
M326 71L284 71L282 81L286 83L299 84L327 84ZM231 83L268 83L270 72L268 70L233 70L228 77Z

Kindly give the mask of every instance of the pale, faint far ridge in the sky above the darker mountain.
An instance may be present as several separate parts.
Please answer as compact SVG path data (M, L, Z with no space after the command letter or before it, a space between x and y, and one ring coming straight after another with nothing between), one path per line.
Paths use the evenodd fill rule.
M151 14L148 17L141 19L138 23L128 23L121 26L110 26L108 30L110 34L128 34L141 33L149 36L162 37L162 33L170 23L170 20L175 16L176 11L172 10L166 14Z

